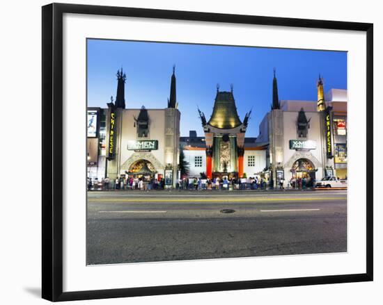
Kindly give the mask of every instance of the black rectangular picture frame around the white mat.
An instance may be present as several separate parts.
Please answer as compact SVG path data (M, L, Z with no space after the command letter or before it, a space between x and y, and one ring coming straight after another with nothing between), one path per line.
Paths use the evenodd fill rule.
M366 32L366 273L63 292L63 14ZM50 301L373 281L373 24L52 3L42 7L42 297Z

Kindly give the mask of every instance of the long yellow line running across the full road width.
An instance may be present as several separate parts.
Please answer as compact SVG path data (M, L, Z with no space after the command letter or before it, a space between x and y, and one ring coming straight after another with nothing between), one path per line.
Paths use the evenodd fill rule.
M347 197L308 197L308 198L231 198L231 199L219 199L217 198L201 198L201 199L158 199L158 198L148 198L148 199L125 199L125 198L114 198L114 199L97 199L89 198L88 201L103 201L103 202L214 202L221 204L222 202L258 202L258 201L325 201L325 200L342 200L347 199Z

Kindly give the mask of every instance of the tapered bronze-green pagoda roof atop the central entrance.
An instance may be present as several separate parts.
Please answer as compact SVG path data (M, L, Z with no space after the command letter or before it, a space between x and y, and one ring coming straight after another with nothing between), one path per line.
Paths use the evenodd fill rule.
M232 129L242 124L238 117L233 92L217 91L213 113L208 124L218 129Z

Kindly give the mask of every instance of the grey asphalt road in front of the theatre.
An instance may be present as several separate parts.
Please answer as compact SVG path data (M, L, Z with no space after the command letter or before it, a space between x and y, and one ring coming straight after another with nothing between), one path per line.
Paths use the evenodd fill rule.
M87 263L345 252L346 198L345 190L88 192Z

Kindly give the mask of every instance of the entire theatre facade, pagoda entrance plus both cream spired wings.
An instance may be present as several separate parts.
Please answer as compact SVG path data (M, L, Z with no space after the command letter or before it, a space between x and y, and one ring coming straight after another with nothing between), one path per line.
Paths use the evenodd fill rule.
M166 108L126 108L125 79L117 73L116 99L107 108L88 108L88 177L164 179L175 187L182 149L189 177L265 178L269 185L306 179L307 186L325 176L347 179L347 90L324 94L317 101L279 100L276 74L272 105L260 122L258 137L246 137L251 111L237 113L233 87L217 87L212 114L198 109L203 136L180 137L175 70ZM314 87L314 86L313 86Z

